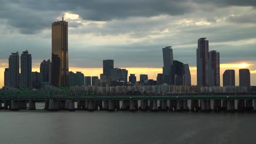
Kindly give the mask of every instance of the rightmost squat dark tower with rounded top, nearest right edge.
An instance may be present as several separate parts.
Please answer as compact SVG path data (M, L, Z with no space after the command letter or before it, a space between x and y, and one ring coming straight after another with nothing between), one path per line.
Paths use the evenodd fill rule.
M251 76L249 69L239 69L239 86L247 87L248 92L251 91Z

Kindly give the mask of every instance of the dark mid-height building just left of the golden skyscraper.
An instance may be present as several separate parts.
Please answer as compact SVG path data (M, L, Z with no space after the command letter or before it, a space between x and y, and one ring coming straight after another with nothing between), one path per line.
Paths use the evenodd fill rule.
M41 87L50 85L51 83L51 61L43 60L40 64Z

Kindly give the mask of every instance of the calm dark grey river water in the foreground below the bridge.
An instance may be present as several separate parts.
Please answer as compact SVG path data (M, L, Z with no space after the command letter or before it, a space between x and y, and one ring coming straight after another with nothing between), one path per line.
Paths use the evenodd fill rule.
M256 143L256 113L0 110L0 143Z

